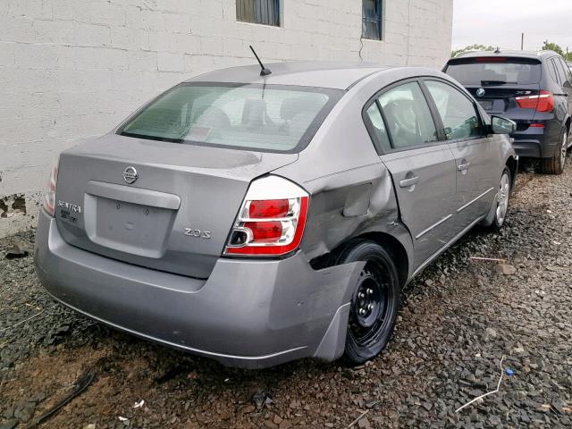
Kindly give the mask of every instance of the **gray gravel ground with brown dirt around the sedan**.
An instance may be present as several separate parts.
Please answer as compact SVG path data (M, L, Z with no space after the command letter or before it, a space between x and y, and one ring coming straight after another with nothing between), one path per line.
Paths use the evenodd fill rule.
M33 231L3 240L0 428L33 422L86 373L87 390L43 427L345 428L363 413L355 427L570 427L571 197L572 163L521 173L505 228L471 232L412 282L388 349L357 368L229 369L115 332L55 304L31 257L3 258ZM456 413L496 389L502 357L514 374Z

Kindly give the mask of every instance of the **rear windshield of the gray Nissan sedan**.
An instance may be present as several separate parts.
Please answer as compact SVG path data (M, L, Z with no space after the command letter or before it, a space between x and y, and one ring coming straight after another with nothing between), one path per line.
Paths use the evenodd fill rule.
M276 85L185 83L145 106L123 136L262 152L298 152L343 91Z

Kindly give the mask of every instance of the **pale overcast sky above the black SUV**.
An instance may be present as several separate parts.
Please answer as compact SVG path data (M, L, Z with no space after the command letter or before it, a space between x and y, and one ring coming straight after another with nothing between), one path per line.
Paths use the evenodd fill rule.
M572 52L572 0L454 0L453 49L469 45L540 49L548 39Z

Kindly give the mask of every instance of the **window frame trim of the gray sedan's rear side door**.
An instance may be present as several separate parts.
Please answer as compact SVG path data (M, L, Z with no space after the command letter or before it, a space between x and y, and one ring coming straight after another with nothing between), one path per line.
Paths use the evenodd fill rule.
M439 121L441 121L441 119L438 118L438 116L435 116L435 111L432 108L432 104L427 99L427 95L426 95L425 90L424 90L424 85L421 83L421 79L423 79L423 78L424 78L423 76L416 76L414 78L407 78L407 79L397 80L395 82L392 82L390 85L387 85L386 87L383 87L380 90L378 90L377 92L375 92L372 97L369 97L367 99L366 104L362 107L362 111L361 111L362 120L364 121L364 124L366 125L367 133L369 134L370 139L374 143L375 150L377 151L377 154L379 156L387 155L387 154L394 154L394 153L398 153L398 152L404 152L404 151L408 151L408 150L420 149L423 147L440 146L440 145L443 145L443 143L446 144L448 142L448 140L445 139L444 132L442 130L442 127L440 126L440 122L437 122L437 119L439 119ZM429 107L429 112L430 112L432 120L433 120L433 126L435 127L435 130L437 132L437 140L432 141L432 142L428 142L428 143L415 145L415 146L397 147L396 148L393 146L393 138L391 137L391 131L387 127L387 118L385 117L385 114L383 113L383 109L381 108L381 105L379 104L378 98L383 96L383 94L385 94L386 92L391 91L391 89L398 88L401 85L406 85L406 84L412 83L412 82L419 85L419 88L421 89L423 97L425 98L425 103ZM380 111L380 114L382 114L383 125L385 125L385 131L387 132L387 136L390 140L390 145L392 147L391 149L383 148L381 141L379 141L377 139L377 136L375 135L374 124L371 122L371 120L369 119L369 116L367 114L367 109L371 105L373 105L374 103L375 103L375 105L377 105L377 108Z

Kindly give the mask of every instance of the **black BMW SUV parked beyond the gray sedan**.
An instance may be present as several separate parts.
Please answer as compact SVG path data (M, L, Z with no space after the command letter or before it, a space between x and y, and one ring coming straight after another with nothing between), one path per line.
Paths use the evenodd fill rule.
M510 137L519 156L540 158L543 172L560 174L570 143L572 72L552 51L471 52L443 69L487 114L517 122Z

